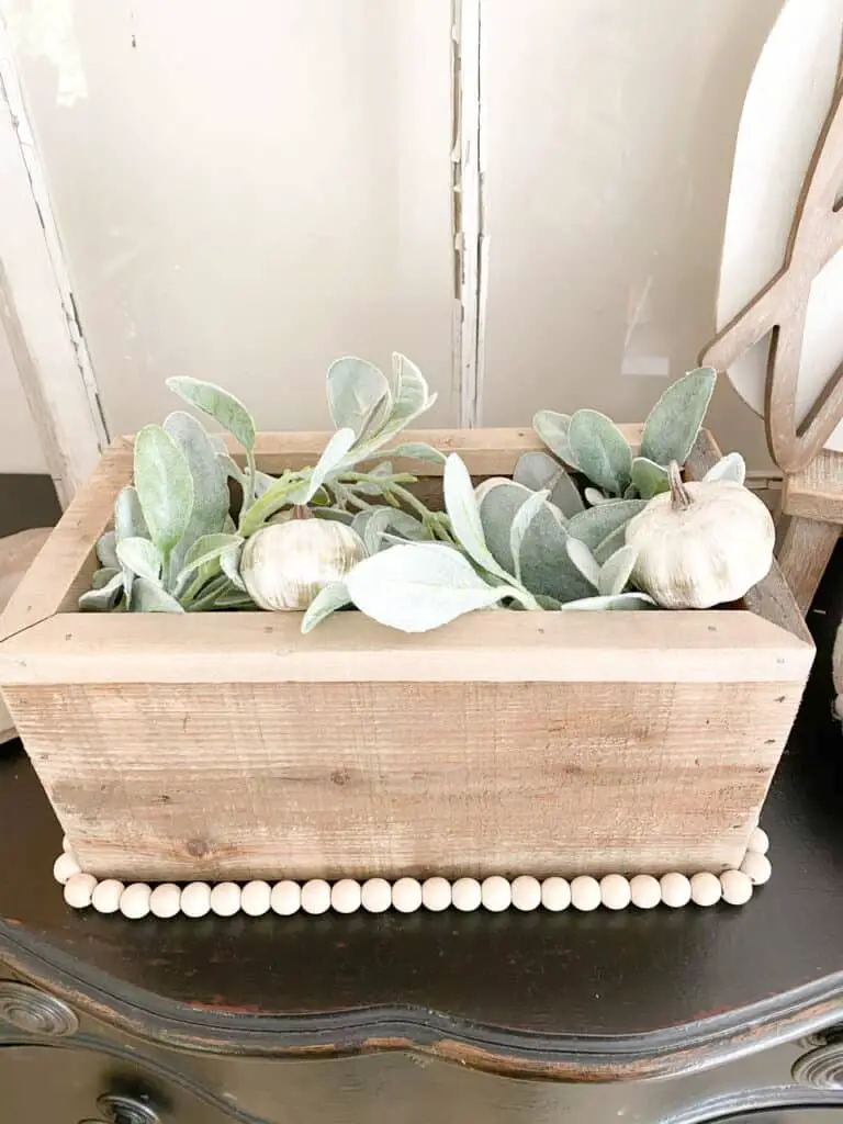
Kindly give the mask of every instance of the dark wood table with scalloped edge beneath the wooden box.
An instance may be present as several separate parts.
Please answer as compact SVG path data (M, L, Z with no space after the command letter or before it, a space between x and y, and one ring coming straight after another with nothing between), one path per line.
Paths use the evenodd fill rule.
M773 879L738 909L75 913L51 874L61 831L12 747L0 1124L843 1121L842 614L839 551L762 817Z

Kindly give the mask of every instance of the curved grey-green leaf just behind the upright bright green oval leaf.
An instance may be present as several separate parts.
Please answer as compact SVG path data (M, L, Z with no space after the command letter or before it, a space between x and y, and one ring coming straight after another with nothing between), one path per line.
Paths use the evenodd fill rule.
M193 509L182 542L173 551L173 571L181 569L191 543L202 535L221 532L230 496L226 470L208 434L190 414L176 410L164 422L164 430L181 448L193 480ZM171 571L172 572L172 571Z

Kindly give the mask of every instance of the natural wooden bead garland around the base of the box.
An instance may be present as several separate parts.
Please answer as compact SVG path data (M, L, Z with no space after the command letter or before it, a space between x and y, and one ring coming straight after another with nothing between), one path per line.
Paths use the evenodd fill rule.
M660 904L677 909L688 903L703 907L718 901L732 906L745 905L752 897L753 888L763 886L770 879L769 846L767 832L756 827L740 869L725 870L719 876L700 871L691 878L670 871L661 878L635 874L627 879L623 874L605 874L599 881L590 874L580 874L570 881L556 876L538 879L532 874L519 874L510 880L491 874L482 882L475 878L457 878L451 882L435 876L424 882L416 878L399 878L395 882L384 878L370 878L364 882L341 878L332 885L325 879L311 878L303 883L282 879L273 885L254 880L243 887L237 882L217 882L214 886L190 882L184 887L162 882L151 887L146 882L127 886L116 878L98 881L93 874L80 870L65 839L53 874L64 887L64 900L74 909L92 906L98 913L120 913L132 919L149 914L166 918L178 914L205 917L211 913L218 917L233 917L237 913L260 917L270 912L281 917L299 912L316 916L329 909L337 914L352 914L359 909L372 914L387 909L406 914L418 909L438 913L452 907L462 913L481 907L490 913L502 913L509 908L522 912L543 908L549 913L573 908L590 913L600 906L613 910L629 906L653 909Z

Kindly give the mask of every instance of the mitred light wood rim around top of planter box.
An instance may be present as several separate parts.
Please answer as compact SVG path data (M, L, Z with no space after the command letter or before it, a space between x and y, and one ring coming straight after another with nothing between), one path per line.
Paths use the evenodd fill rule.
M631 444L641 426L620 427ZM328 433L263 433L270 472L312 464ZM459 452L475 475L511 472L542 448L532 429L418 429ZM233 448L234 451L234 448ZM707 430L689 461L701 475L719 455ZM110 445L64 513L0 618L0 683L212 681L792 681L814 643L778 564L746 609L663 613L470 614L446 628L405 635L348 613L302 636L299 614L85 614L75 609L97 565L117 491L130 481L132 438ZM417 475L436 465L397 460ZM665 624L670 627L665 628ZM220 660L220 653L225 659Z

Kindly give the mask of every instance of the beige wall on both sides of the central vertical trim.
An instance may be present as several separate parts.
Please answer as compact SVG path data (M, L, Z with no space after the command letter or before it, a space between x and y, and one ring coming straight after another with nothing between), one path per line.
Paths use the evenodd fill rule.
M779 7L483 0L483 423L634 419L695 364ZM392 348L441 391L432 420L456 420L450 0L0 9L115 432L167 410L174 373L264 427L321 426L329 360ZM729 388L714 424L768 463Z

